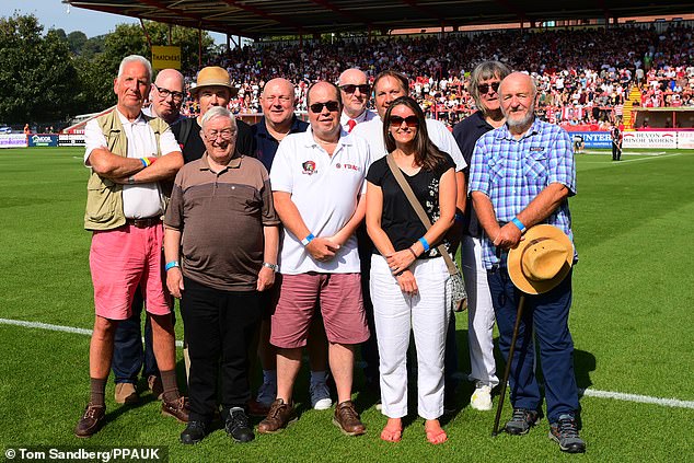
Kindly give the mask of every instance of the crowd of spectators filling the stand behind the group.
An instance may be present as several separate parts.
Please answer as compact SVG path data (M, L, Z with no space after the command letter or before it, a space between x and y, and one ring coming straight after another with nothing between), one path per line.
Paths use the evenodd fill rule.
M313 81L337 81L352 67L371 78L392 68L409 76L412 93L428 116L452 125L475 111L466 90L470 70L497 59L534 77L545 119L606 125L621 114L633 86L641 93L640 106L694 106L693 33L689 25L672 23L664 32L631 25L261 43L207 65L227 68L240 86L231 103L235 113L259 112L263 85L275 77L297 85L298 109L305 111ZM188 103L184 112L195 114L196 108Z

